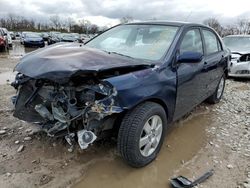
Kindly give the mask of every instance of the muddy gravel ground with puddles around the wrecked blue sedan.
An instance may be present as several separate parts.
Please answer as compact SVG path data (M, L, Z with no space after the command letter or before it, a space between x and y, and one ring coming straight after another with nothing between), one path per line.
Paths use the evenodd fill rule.
M0 187L166 188L171 177L194 180L209 169L214 175L198 187L250 187L249 80L227 80L219 104L203 103L174 123L156 161L134 169L113 140L72 151L63 139L12 116L11 71L30 50L16 41L10 53L0 53Z

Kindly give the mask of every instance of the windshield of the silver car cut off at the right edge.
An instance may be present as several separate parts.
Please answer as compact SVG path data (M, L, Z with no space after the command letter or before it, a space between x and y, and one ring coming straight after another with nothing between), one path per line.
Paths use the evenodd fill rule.
M225 37L223 41L232 52L250 52L250 37Z

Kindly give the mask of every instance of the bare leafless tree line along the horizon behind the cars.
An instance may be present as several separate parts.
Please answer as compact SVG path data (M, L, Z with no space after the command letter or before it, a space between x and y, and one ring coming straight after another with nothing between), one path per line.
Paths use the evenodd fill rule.
M133 20L133 17L125 16L120 19L120 23L129 23ZM250 34L250 19L238 19L234 24L222 26L218 19L208 18L203 21L203 24L212 27L222 37L227 35ZM15 14L9 14L4 18L0 18L0 27L5 27L9 31L60 31L87 34L102 32L108 28L100 28L85 19L76 22L71 17L63 19L58 15L54 15L51 16L48 21L40 22Z

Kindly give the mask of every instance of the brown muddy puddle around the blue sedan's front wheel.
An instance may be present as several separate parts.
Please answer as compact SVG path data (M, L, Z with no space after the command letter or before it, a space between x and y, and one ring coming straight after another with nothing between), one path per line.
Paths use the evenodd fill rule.
M206 144L205 128L210 125L211 119L211 114L203 113L175 123L156 161L141 169L129 167L116 154L107 156L108 151L106 151L103 156L88 166L81 181L73 188L168 187L169 178L173 176L176 169L181 167L181 161L192 159ZM112 152L115 153L116 150L113 150Z

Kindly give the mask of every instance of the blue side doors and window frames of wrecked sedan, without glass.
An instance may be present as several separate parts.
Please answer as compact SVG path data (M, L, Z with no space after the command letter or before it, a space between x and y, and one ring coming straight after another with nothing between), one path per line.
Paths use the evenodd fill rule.
M183 34L177 43L176 52L178 54L178 46L182 41L185 31L193 28L204 28L203 26L193 27L184 26ZM209 28L205 28L209 29ZM212 29L209 29L214 32ZM214 32L215 33L215 32ZM216 34L217 35L217 34ZM203 41L203 50L205 54L204 37L201 33ZM218 35L217 35L218 37ZM218 40L222 43L220 38ZM210 56L204 55L204 58L199 63L184 63L177 66L177 94L176 108L174 120L179 119L187 112L191 111L195 106L207 99L215 91L219 79L227 68L227 60L229 53L224 49L222 43L222 51Z

